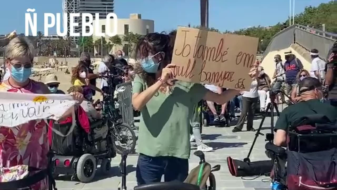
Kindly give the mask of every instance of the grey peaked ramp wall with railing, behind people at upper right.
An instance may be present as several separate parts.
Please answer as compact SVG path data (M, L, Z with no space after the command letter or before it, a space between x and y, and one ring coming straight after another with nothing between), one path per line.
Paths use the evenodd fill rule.
M268 44L263 58L271 51L299 44L307 50L317 49L321 57L326 57L329 49L337 40L337 34L295 24L276 33Z

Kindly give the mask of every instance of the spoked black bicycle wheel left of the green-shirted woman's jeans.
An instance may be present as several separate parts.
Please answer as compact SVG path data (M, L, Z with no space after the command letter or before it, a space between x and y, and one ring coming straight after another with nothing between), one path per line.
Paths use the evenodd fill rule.
M132 128L125 124L119 124L112 129L113 141L112 145L117 153L122 154L123 151L133 152L136 146L136 135Z

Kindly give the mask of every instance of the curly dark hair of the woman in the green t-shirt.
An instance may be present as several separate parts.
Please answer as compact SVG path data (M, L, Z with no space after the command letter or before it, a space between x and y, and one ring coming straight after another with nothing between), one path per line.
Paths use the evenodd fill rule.
M176 32L171 32L168 35L163 33L149 33L145 35L145 37L139 40L135 48L136 60L147 58L150 53L154 55L158 52L164 52L165 56L160 62L158 70L166 67L172 60L175 35ZM156 81L156 74L145 72L140 63L135 64L135 72L145 80L148 87Z

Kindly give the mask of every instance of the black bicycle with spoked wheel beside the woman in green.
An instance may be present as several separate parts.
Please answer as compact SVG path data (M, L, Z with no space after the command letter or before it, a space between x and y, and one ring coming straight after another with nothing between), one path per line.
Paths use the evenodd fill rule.
M125 88L116 89L116 84L121 83L122 75L113 75L111 73L103 76L107 79L108 88L103 93L103 101L100 101L101 115L103 121L108 124L109 133L113 138L112 145L117 153L122 154L124 151L133 152L136 146L136 135L133 129L126 123L122 122L122 115L118 109L118 98L114 97L115 91L123 93Z

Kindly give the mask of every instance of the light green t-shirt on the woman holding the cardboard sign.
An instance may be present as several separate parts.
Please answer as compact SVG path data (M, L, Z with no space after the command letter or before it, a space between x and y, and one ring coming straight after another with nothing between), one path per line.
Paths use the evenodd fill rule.
M147 88L136 75L133 93ZM200 84L176 81L171 92L157 92L141 109L137 151L147 156L173 156L188 159L190 155L190 117L194 105L207 92Z

